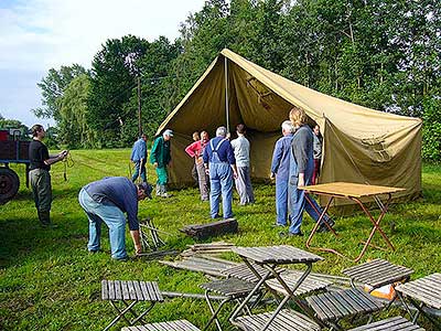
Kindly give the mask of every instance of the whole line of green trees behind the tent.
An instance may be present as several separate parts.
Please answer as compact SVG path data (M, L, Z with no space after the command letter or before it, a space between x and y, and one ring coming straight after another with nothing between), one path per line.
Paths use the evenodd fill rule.
M92 61L51 68L40 117L69 148L152 137L224 47L289 79L369 108L423 119L423 157L441 160L441 19L435 0L208 0L174 41L107 40ZM195 128L196 129L196 128Z

